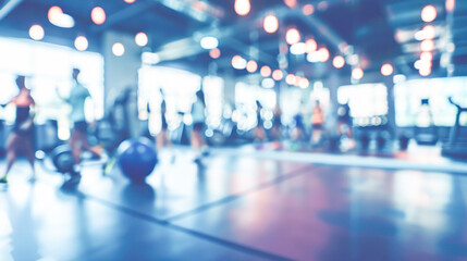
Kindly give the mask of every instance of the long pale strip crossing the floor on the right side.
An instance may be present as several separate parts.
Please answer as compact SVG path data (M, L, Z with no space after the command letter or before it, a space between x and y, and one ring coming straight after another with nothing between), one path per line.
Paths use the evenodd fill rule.
M442 172L451 174L467 175L467 163L446 161L437 162L410 162L400 159L381 159L376 157L349 156L349 154L328 154L316 152L295 151L258 151L248 150L238 153L234 149L219 150L216 154L230 154L250 157L256 159L280 160L288 162L300 162L310 164L334 165L334 166L356 166L384 170L414 170L423 172Z

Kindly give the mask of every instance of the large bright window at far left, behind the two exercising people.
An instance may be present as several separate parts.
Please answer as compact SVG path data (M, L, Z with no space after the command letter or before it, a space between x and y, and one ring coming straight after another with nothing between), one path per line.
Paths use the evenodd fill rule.
M58 120L61 138L69 136L67 114L70 109L56 95L56 89L66 97L72 86L71 73L78 67L79 80L93 97L87 115L100 119L103 115L103 58L99 53L78 52L74 49L36 42L27 39L0 37L0 103L17 95L16 75L27 76L26 85L37 103L36 122ZM64 110L64 108L66 108ZM12 108L0 110L0 117L14 120Z

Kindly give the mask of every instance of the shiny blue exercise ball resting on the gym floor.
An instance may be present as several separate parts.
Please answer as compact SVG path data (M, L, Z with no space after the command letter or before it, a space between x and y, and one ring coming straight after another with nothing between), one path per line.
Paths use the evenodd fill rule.
M147 138L123 141L118 157L120 169L132 182L144 182L158 161L156 149Z

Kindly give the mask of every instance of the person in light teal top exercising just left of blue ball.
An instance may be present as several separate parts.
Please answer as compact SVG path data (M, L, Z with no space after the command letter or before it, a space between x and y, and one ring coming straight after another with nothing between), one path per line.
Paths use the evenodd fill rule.
M96 158L100 157L100 153L93 149L87 141L88 124L85 116L85 102L90 98L90 94L89 90L79 83L79 72L81 71L78 69L73 69L73 87L70 92L70 98L62 98L72 108L70 119L73 122L73 129L70 138L70 146L72 147L73 159L76 167L78 167L81 163L81 156L84 150L91 152ZM75 169L75 173L73 173L73 175L79 176L79 170Z

